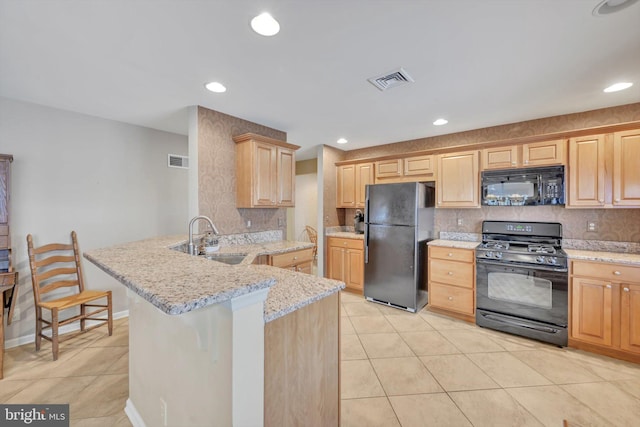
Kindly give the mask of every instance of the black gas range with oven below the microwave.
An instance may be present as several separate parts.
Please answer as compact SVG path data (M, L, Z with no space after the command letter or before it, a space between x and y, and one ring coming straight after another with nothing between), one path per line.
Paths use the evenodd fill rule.
M540 341L568 341L562 225L484 221L476 248L476 323Z

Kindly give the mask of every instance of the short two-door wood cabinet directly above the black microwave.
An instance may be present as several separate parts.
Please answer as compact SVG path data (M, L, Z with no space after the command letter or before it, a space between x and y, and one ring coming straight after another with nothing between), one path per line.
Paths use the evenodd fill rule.
M482 170L564 165L567 141L535 142L482 150Z

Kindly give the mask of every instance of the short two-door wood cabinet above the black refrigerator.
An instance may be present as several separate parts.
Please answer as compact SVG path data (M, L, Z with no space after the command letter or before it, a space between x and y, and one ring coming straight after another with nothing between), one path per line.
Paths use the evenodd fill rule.
M433 155L411 156L376 162L376 183L433 181L435 158Z

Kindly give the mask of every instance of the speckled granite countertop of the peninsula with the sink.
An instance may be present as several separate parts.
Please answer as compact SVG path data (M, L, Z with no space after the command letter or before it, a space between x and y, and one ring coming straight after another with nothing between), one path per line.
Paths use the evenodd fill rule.
M249 292L271 288L265 322L275 320L344 288L343 282L267 265L257 256L313 247L309 242L275 241L222 246L221 254L246 254L227 265L171 249L185 236L157 237L84 253L85 258L167 314L182 314Z

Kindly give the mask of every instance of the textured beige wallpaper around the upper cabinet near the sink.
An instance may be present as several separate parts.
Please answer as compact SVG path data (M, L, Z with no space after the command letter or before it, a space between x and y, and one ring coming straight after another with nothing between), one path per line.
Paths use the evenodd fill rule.
M252 132L287 140L276 129L198 107L198 204L221 234L286 230L286 209L236 208L236 144L233 137ZM278 219L282 226L278 226ZM247 228L251 220L251 228Z

